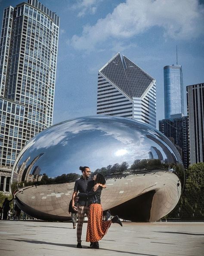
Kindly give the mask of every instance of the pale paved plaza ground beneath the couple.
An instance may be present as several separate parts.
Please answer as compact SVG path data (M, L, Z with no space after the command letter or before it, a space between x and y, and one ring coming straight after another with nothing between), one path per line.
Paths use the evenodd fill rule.
M0 221L0 256L204 256L204 222L112 224L100 249L76 248L71 223Z

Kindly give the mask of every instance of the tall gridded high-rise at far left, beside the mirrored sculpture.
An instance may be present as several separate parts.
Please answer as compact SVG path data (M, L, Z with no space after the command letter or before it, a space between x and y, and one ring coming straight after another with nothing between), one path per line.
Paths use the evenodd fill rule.
M4 10L0 37L1 189L6 188L26 141L52 125L58 38L59 17L37 0Z

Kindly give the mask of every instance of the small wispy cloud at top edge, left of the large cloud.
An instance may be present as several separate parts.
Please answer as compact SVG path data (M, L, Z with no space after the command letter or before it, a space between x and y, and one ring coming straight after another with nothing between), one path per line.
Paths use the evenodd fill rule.
M97 7L96 5L99 3L99 0L78 0L77 3L75 3L72 6L72 9L74 10L80 10L78 13L78 17L83 17L87 13L95 14Z

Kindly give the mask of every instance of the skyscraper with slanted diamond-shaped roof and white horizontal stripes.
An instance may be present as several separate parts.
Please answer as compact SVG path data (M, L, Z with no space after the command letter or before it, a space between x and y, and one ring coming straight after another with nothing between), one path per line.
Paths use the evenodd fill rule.
M97 114L134 118L156 127L155 79L116 54L98 72Z

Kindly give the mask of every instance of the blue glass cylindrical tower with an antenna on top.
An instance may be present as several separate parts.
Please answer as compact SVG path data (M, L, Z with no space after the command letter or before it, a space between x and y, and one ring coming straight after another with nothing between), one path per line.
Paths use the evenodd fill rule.
M164 67L164 113L165 119L171 115L184 115L182 66Z

